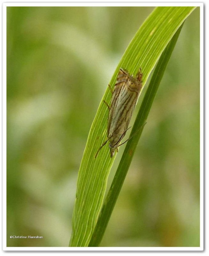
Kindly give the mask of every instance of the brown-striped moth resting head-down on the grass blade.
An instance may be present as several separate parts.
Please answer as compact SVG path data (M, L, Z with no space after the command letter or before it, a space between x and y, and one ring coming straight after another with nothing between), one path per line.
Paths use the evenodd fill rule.
M108 125L107 125L107 140L98 149L95 158L97 157L100 149L105 146L109 141L110 157L112 158L115 151L118 152L118 147L127 142L127 140L120 144L120 141L126 135L131 116L133 114L136 101L142 89L142 72L139 69L136 77L129 75L128 71L120 68L117 81L111 92L112 99L111 105L104 100L104 103L109 109ZM129 138L130 139L130 138ZM128 139L128 140L129 140Z

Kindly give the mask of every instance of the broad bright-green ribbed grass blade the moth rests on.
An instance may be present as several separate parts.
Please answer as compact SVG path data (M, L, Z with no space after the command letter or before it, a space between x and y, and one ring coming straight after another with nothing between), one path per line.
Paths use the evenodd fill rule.
M195 7L157 7L139 28L116 68L110 85L113 88L120 67L136 74L141 67L143 86L161 53L183 21ZM107 88L92 123L82 157L76 200L72 219L70 246L88 246L105 195L107 178L114 158L106 145L94 158L99 146L106 140L108 109L103 100L110 102Z

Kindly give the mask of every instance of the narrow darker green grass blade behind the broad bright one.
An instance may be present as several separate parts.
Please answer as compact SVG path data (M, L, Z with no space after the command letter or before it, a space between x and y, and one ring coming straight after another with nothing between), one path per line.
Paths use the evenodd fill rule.
M182 24L182 26L183 26L183 24ZM112 181L111 188L107 194L107 197L104 202L104 206L102 207L101 213L99 215L97 225L94 229L92 238L89 242L89 246L91 246L91 247L98 246L102 240L104 233L105 233L105 229L107 227L108 221L112 214L112 210L117 201L117 198L120 193L120 189L122 188L123 182L125 180L126 174L128 172L129 166L131 164L133 154L135 152L138 141L141 137L141 134L142 134L142 131L144 128L143 125L146 123L153 100L158 91L160 81L161 81L163 74L166 70L168 61L169 61L171 54L174 50L174 47L175 47L175 44L179 37L179 34L181 32L182 26L177 30L177 32L171 39L170 43L167 45L166 49L160 56L157 66L154 70L154 73L152 75L152 78L151 78L150 84L147 88L147 91L144 95L141 107L137 114L137 117L136 117L136 120L135 120L135 123L134 123L134 126L133 126L130 136L132 134L136 133L140 128L142 128L142 129L140 129L139 132L137 132L135 134L135 136L132 139L128 140L128 142L127 142L127 145L123 152L122 158L120 160L120 164L118 166L117 172Z

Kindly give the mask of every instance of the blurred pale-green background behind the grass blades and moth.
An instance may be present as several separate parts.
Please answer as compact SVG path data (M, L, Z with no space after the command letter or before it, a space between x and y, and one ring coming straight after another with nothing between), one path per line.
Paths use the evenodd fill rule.
M7 7L7 246L68 246L91 123L153 9ZM197 8L182 28L100 246L199 246L199 26Z

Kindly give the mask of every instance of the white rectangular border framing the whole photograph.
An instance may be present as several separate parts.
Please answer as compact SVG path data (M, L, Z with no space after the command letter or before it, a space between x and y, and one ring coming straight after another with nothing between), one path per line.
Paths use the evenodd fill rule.
M204 5L203 3L3 3L3 250L4 251L203 251L204 250ZM199 6L200 7L200 247L7 247L6 246L6 7L7 6Z

